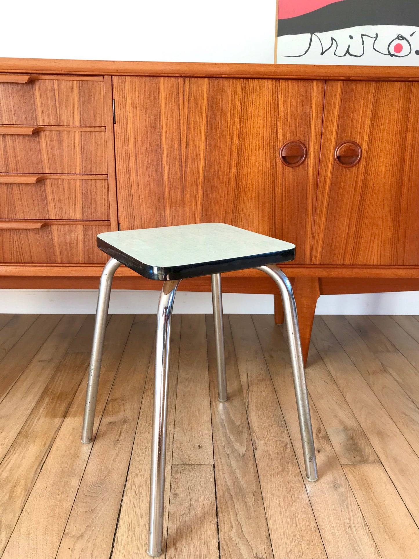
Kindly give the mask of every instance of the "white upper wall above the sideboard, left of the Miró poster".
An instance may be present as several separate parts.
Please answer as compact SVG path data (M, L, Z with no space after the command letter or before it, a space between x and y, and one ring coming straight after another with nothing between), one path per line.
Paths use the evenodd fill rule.
M275 14L275 0L1 2L0 56L271 63Z

